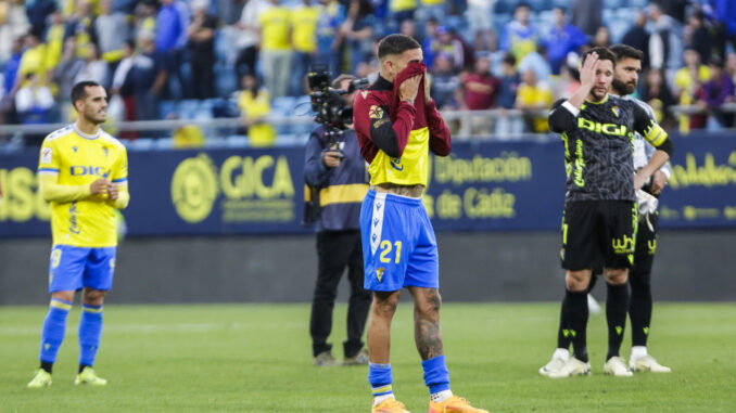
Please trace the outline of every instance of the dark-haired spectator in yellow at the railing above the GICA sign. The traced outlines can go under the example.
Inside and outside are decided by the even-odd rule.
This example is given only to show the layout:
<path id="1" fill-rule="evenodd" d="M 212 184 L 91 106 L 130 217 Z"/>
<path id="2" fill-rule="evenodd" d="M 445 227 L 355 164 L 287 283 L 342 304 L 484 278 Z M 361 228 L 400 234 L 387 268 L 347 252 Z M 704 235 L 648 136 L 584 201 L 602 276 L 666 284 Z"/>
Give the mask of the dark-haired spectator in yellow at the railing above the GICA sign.
<path id="1" fill-rule="evenodd" d="M 276 142 L 276 129 L 265 121 L 271 112 L 270 95 L 261 88 L 253 75 L 243 76 L 243 91 L 238 99 L 238 107 L 243 124 L 248 127 L 248 139 L 251 146 L 271 146 Z"/>

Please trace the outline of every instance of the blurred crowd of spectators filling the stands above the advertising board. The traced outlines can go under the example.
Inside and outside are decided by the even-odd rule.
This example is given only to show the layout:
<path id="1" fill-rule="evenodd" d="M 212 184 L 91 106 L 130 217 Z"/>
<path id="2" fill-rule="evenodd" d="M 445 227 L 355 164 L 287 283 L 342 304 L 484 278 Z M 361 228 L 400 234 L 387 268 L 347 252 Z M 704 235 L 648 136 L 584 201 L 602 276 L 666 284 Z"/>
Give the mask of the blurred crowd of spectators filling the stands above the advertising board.
<path id="1" fill-rule="evenodd" d="M 72 85 L 94 80 L 116 120 L 227 99 L 269 144 L 266 116 L 308 94 L 310 65 L 375 80 L 391 33 L 419 40 L 442 111 L 498 109 L 465 125 L 473 133 L 546 132 L 545 109 L 579 85 L 580 55 L 613 42 L 645 51 L 637 96 L 665 127 L 734 126 L 732 0 L 0 0 L 0 122 L 68 121 Z"/>

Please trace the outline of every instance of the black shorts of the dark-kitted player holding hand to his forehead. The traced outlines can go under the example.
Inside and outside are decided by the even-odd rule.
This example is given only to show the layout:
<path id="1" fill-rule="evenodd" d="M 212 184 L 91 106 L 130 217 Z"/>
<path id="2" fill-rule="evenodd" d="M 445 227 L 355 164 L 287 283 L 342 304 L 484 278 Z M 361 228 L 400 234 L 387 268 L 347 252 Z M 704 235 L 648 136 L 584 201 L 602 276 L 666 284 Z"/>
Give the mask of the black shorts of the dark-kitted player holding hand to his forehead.
<path id="1" fill-rule="evenodd" d="M 564 205 L 562 268 L 570 271 L 631 268 L 636 247 L 633 201 L 579 201 Z"/>

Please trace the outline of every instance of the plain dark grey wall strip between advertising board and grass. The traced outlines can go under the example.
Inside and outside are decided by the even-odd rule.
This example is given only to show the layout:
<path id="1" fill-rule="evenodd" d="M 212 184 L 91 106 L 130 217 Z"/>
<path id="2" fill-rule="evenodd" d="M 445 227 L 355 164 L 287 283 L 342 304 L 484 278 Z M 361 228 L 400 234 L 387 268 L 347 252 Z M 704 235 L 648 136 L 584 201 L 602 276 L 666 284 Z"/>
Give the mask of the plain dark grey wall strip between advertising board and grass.
<path id="1" fill-rule="evenodd" d="M 663 231 L 655 298 L 736 300 L 735 240 L 734 230 Z M 437 242 L 445 301 L 556 301 L 563 294 L 557 232 L 441 232 Z M 0 241 L 0 305 L 48 300 L 49 250 L 45 238 Z M 313 235 L 128 238 L 107 302 L 304 302 L 316 268 Z M 604 289 L 594 294 L 604 299 Z M 339 300 L 346 298 L 342 282 Z"/>

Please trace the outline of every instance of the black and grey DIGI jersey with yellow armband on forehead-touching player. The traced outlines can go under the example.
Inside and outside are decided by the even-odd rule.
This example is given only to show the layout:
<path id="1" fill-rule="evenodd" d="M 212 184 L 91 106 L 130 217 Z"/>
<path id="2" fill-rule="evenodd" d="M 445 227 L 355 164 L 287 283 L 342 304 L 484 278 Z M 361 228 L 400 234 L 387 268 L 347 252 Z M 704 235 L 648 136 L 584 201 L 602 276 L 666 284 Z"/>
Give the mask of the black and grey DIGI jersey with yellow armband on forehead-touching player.
<path id="1" fill-rule="evenodd" d="M 635 131 L 655 147 L 668 134 L 636 103 L 607 95 L 604 101 L 585 101 L 578 116 L 562 106 L 551 106 L 549 125 L 561 133 L 567 172 L 566 201 L 635 201 Z M 671 152 L 671 143 L 667 146 Z"/>

